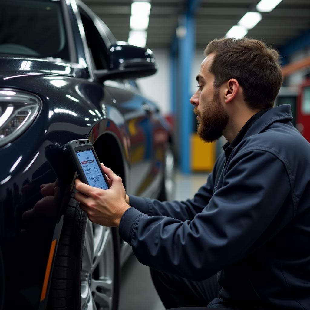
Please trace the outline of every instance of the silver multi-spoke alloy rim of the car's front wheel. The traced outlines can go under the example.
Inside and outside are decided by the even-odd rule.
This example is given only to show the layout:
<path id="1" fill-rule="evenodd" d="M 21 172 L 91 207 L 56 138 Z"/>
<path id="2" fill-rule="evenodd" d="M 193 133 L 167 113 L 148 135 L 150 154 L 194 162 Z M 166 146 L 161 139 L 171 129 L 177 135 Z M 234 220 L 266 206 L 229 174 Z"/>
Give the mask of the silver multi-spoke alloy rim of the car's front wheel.
<path id="1" fill-rule="evenodd" d="M 111 310 L 114 284 L 112 230 L 87 219 L 82 256 L 81 309 Z"/>

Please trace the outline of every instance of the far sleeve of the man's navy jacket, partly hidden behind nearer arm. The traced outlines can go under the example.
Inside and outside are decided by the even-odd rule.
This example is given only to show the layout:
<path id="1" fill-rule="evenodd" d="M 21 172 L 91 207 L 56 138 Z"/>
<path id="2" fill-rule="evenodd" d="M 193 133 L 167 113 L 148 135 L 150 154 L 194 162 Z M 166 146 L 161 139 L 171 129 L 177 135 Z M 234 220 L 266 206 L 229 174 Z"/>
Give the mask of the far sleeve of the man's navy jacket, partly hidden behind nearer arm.
<path id="1" fill-rule="evenodd" d="M 224 154 L 223 154 L 224 155 Z M 162 215 L 186 221 L 193 219 L 197 213 L 200 213 L 209 203 L 215 187 L 215 175 L 219 166 L 223 162 L 223 157 L 219 157 L 213 171 L 208 176 L 206 184 L 202 185 L 193 199 L 186 201 L 159 201 L 150 198 L 141 198 L 129 195 L 129 205 L 149 216 Z"/>

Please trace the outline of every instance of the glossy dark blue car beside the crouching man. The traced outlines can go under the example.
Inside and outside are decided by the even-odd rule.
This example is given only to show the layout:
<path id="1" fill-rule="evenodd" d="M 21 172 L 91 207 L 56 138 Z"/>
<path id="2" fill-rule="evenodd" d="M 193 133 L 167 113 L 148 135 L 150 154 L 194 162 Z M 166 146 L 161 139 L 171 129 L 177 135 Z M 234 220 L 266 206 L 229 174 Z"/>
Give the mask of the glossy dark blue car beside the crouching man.
<path id="1" fill-rule="evenodd" d="M 170 129 L 132 80 L 152 51 L 79 1 L 0 2 L 0 20 L 0 308 L 117 309 L 131 249 L 80 210 L 65 146 L 87 138 L 127 193 L 170 195 Z"/>

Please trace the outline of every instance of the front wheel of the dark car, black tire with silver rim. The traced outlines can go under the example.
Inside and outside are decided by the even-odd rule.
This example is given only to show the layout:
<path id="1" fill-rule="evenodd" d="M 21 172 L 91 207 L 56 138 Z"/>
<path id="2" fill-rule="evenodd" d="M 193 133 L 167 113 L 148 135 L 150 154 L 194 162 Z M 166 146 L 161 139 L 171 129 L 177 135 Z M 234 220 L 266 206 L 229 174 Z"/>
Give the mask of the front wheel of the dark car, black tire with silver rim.
<path id="1" fill-rule="evenodd" d="M 51 309 L 117 310 L 119 297 L 119 237 L 116 228 L 89 221 L 73 198 L 55 255 L 51 279 Z"/>

